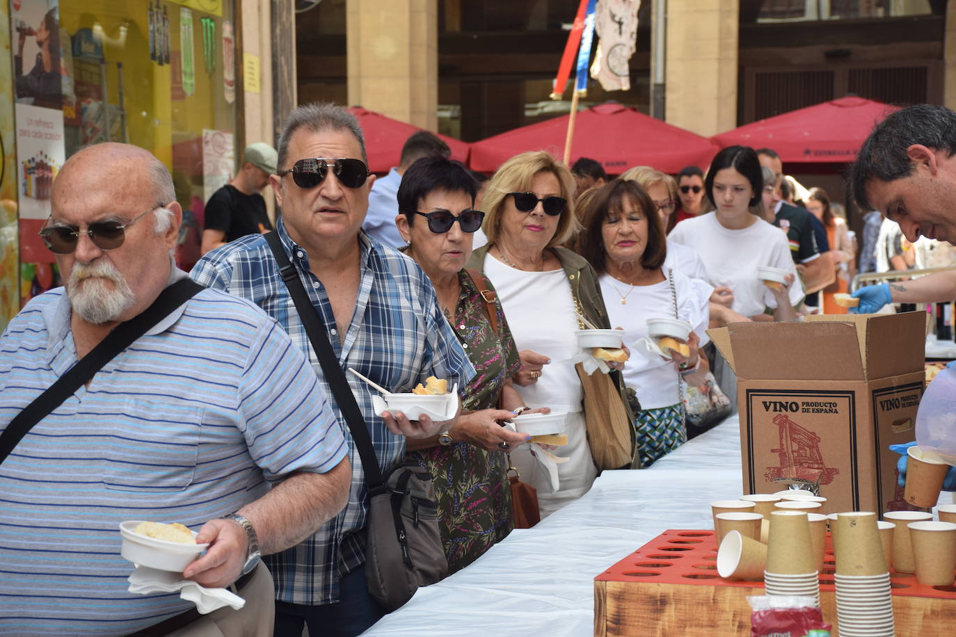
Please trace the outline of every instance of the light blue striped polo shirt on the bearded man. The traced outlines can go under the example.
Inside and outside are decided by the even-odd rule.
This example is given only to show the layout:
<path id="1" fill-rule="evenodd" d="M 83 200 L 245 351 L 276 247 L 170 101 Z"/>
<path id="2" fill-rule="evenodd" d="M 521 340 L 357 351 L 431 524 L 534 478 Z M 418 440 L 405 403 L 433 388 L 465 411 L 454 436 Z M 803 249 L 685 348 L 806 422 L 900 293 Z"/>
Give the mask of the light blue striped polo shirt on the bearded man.
<path id="1" fill-rule="evenodd" d="M 0 337 L 0 431 L 75 363 L 69 300 L 57 288 Z M 0 634 L 124 635 L 187 610 L 176 594 L 127 592 L 121 521 L 198 530 L 346 452 L 285 331 L 247 301 L 201 291 L 0 465 Z"/>

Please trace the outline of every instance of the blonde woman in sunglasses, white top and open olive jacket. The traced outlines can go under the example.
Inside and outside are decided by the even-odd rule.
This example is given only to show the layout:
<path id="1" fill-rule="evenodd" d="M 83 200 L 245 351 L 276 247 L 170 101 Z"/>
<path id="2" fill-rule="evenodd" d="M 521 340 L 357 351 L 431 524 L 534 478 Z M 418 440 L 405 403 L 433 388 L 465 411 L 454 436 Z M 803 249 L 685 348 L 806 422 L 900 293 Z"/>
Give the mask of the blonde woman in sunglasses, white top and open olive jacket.
<path id="1" fill-rule="evenodd" d="M 567 458 L 557 465 L 556 489 L 527 447 L 511 454 L 521 478 L 537 489 L 542 517 L 583 496 L 597 477 L 584 427 L 583 389 L 569 359 L 579 351 L 578 313 L 598 328 L 611 326 L 595 271 L 580 256 L 559 247 L 579 227 L 574 192 L 571 171 L 548 153 L 509 159 L 489 181 L 483 202 L 489 244 L 475 250 L 468 262 L 483 269 L 497 288 L 514 341 L 522 350 L 521 371 L 512 379 L 524 404 L 568 413 L 568 444 L 554 452 Z M 615 364 L 616 370 L 620 367 Z M 613 374 L 622 391 L 619 372 Z"/>

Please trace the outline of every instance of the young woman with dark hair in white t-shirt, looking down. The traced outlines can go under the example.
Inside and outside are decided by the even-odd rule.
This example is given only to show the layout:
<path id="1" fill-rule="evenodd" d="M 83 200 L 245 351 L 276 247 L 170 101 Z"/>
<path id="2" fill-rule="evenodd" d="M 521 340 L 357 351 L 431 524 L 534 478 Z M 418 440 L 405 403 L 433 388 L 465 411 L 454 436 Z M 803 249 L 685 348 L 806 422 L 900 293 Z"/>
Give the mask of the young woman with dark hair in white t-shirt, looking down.
<path id="1" fill-rule="evenodd" d="M 679 223 L 668 239 L 697 251 L 708 283 L 730 290 L 734 311 L 763 319 L 769 309 L 775 321 L 795 320 L 803 291 L 793 285 L 796 267 L 787 236 L 750 213 L 763 190 L 757 154 L 748 146 L 725 148 L 710 163 L 704 185 L 716 210 Z M 765 286 L 759 265 L 786 270 L 787 285 L 779 291 Z"/>

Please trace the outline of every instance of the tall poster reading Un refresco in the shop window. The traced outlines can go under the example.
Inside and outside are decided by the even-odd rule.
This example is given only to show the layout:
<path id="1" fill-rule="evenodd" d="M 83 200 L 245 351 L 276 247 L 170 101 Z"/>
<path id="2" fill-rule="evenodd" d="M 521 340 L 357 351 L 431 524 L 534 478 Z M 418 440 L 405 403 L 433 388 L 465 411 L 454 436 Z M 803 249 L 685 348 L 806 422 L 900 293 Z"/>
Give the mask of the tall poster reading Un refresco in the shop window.
<path id="1" fill-rule="evenodd" d="M 60 29 L 56 2 L 12 0 L 10 18 L 20 297 L 26 302 L 56 283 L 53 254 L 36 233 L 50 216 L 53 180 L 66 159 L 63 85 L 72 75 L 63 58 L 70 40 Z"/>

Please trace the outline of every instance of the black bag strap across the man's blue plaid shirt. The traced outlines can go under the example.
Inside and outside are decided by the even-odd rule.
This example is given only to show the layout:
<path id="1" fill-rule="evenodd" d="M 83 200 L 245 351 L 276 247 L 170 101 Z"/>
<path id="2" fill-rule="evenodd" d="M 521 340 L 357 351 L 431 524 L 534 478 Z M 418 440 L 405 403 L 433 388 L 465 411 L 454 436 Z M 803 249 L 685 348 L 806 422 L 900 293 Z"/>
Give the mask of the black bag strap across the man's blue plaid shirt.
<path id="1" fill-rule="evenodd" d="M 302 286 L 302 280 L 299 279 L 298 270 L 289 262 L 286 251 L 282 247 L 282 240 L 275 231 L 263 235 L 269 246 L 272 248 L 272 256 L 275 263 L 279 266 L 279 275 L 289 288 L 289 294 L 293 297 L 295 310 L 298 311 L 299 318 L 302 319 L 302 327 L 309 336 L 309 342 L 312 343 L 312 349 L 318 357 L 318 362 L 322 366 L 322 372 L 325 379 L 329 382 L 333 395 L 336 397 L 338 409 L 345 416 L 345 424 L 348 425 L 352 433 L 352 439 L 355 440 L 356 448 L 359 450 L 362 468 L 365 471 L 365 482 L 368 484 L 369 491 L 381 484 L 381 470 L 379 468 L 379 457 L 375 455 L 375 449 L 372 447 L 372 437 L 368 435 L 368 428 L 365 425 L 365 418 L 359 410 L 359 403 L 356 402 L 356 396 L 349 387 L 349 381 L 345 379 L 345 372 L 338 364 L 335 350 L 329 343 L 329 335 L 325 327 L 318 320 L 318 313 L 306 294 L 305 287 Z"/>

